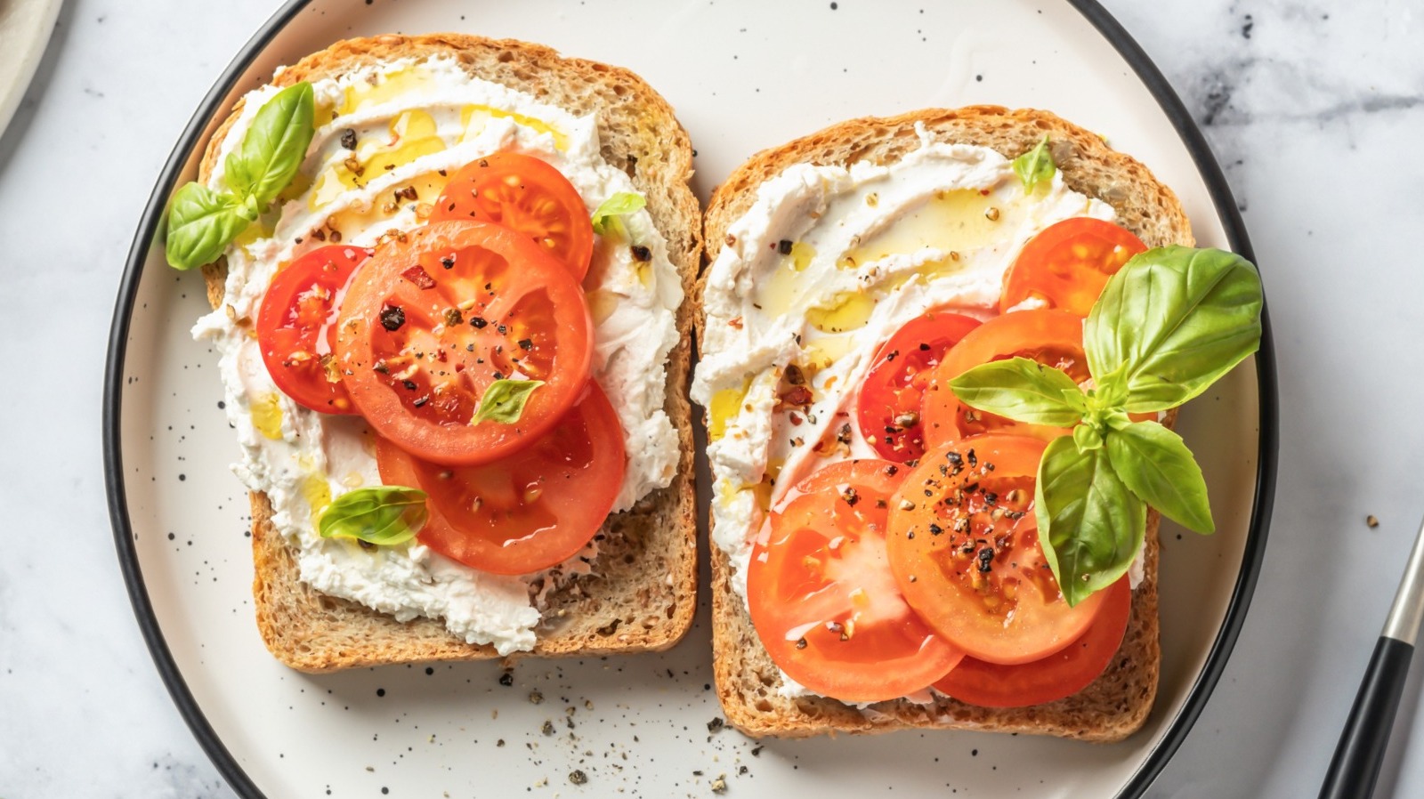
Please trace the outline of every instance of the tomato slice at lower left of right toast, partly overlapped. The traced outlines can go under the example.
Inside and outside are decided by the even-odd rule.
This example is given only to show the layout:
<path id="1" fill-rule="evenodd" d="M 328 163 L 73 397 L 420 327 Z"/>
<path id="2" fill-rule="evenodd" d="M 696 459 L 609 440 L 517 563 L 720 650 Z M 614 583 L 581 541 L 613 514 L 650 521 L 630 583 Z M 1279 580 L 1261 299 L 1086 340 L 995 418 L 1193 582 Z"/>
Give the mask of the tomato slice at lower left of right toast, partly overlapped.
<path id="1" fill-rule="evenodd" d="M 903 474 L 887 460 L 827 466 L 793 489 L 752 547 L 756 634 L 782 671 L 824 696 L 904 696 L 963 657 L 910 610 L 886 563 L 886 503 Z"/>

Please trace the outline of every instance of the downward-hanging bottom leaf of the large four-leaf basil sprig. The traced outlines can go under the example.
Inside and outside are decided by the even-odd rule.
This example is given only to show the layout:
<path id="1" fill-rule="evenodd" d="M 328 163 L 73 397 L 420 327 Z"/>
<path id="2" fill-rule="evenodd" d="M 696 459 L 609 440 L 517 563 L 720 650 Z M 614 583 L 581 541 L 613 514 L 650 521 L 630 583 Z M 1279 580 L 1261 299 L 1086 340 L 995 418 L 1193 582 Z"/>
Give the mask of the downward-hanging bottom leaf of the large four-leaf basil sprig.
<path id="1" fill-rule="evenodd" d="M 1049 442 L 1034 487 L 1038 540 L 1069 605 L 1116 583 L 1142 547 L 1146 506 L 1108 463 L 1105 449 Z"/>

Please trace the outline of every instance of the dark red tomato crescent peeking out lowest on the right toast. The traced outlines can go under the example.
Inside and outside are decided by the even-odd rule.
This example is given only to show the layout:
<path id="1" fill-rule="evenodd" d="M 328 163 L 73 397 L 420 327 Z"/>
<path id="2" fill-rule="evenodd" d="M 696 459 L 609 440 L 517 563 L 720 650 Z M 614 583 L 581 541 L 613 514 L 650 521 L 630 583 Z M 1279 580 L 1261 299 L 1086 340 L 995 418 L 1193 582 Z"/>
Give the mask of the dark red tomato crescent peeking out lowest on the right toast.
<path id="1" fill-rule="evenodd" d="M 970 705 L 1022 708 L 1071 696 L 1098 679 L 1122 645 L 1132 615 L 1128 578 L 1102 591 L 1098 618 L 1081 638 L 1047 658 L 1021 665 L 997 665 L 964 658 L 934 686 Z"/>

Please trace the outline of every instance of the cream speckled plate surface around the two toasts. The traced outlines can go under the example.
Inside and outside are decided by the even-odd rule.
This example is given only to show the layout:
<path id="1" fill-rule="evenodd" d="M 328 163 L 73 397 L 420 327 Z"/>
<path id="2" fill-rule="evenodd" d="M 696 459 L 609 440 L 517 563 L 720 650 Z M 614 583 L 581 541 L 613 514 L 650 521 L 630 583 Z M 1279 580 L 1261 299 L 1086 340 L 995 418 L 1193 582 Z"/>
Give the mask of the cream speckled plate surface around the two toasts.
<path id="1" fill-rule="evenodd" d="M 923 7 L 921 7 L 923 6 Z M 1274 367 L 1262 353 L 1179 430 L 1219 531 L 1163 527 L 1162 685 L 1146 728 L 1085 745 L 973 732 L 756 742 L 721 728 L 703 610 L 669 652 L 362 669 L 273 661 L 252 621 L 246 497 L 216 356 L 188 329 L 198 275 L 150 248 L 199 142 L 278 64 L 350 36 L 518 37 L 642 74 L 698 148 L 695 188 L 752 152 L 864 114 L 997 103 L 1052 110 L 1146 162 L 1202 244 L 1250 255 L 1229 189 L 1171 88 L 1088 0 L 481 3 L 315 0 L 281 10 L 182 132 L 120 291 L 105 387 L 120 564 L 174 699 L 219 771 L 255 796 L 1139 796 L 1186 735 L 1240 628 L 1274 477 Z M 1267 265 L 1269 275 L 1269 265 Z M 705 469 L 705 464 L 703 464 Z"/>

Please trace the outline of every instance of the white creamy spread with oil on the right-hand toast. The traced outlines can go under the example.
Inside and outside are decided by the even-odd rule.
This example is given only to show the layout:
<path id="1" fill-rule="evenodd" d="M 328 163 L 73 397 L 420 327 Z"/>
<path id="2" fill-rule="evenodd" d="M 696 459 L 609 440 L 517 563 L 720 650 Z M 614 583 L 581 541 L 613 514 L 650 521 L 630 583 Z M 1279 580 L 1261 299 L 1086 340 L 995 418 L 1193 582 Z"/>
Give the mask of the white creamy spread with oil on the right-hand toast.
<path id="1" fill-rule="evenodd" d="M 765 181 L 708 271 L 692 399 L 708 410 L 712 540 L 743 600 L 768 508 L 819 466 L 877 457 L 854 402 L 880 343 L 931 308 L 994 315 L 1004 272 L 1037 232 L 1114 219 L 1061 174 L 1025 195 L 998 152 L 917 132 L 920 147 L 894 164 L 797 164 Z M 809 407 L 778 403 L 792 367 Z M 782 692 L 805 688 L 783 675 Z"/>

